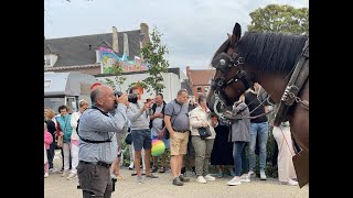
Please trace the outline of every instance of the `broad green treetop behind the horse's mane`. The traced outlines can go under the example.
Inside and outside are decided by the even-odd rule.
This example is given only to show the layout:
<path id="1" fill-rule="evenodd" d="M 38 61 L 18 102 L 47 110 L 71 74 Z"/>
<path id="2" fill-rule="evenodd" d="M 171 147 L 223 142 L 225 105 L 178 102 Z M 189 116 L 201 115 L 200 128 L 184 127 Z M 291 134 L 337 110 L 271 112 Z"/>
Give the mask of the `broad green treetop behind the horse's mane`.
<path id="1" fill-rule="evenodd" d="M 248 31 L 309 34 L 309 9 L 269 4 L 250 12 Z"/>

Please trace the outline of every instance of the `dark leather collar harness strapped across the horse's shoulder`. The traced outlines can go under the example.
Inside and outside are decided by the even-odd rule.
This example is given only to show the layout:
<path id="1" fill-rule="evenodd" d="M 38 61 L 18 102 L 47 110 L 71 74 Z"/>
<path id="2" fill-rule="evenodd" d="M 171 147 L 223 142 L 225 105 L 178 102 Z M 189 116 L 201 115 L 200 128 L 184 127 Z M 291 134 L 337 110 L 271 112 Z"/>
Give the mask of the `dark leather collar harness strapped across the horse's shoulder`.
<path id="1" fill-rule="evenodd" d="M 302 48 L 302 54 L 296 64 L 293 74 L 286 87 L 286 90 L 278 105 L 274 124 L 279 125 L 281 122 L 288 120 L 288 111 L 293 106 L 295 101 L 300 103 L 309 111 L 309 101 L 301 100 L 298 96 L 300 89 L 309 78 L 309 37 Z"/>

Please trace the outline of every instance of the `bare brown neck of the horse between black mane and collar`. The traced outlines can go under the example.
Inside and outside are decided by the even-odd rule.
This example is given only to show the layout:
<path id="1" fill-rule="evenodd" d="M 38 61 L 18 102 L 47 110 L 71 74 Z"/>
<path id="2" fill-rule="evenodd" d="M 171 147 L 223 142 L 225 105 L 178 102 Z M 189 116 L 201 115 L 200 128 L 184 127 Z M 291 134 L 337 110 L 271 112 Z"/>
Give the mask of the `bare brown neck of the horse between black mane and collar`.
<path id="1" fill-rule="evenodd" d="M 266 92 L 270 96 L 270 98 L 276 102 L 279 103 L 280 98 L 282 97 L 286 86 L 289 81 L 285 80 L 286 74 L 278 74 L 278 75 L 263 75 L 258 76 L 256 79 L 257 82 L 261 85 L 261 87 L 266 90 Z"/>

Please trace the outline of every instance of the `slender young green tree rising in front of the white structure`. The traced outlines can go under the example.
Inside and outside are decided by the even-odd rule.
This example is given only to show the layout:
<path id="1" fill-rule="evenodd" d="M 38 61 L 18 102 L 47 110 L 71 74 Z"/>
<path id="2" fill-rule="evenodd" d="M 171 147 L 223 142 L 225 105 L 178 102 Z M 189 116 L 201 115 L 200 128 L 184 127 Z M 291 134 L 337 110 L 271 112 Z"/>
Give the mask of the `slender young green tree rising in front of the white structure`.
<path id="1" fill-rule="evenodd" d="M 157 28 L 153 29 L 151 35 L 151 42 L 149 42 L 141 51 L 143 61 L 149 68 L 149 77 L 142 80 L 146 84 L 147 91 L 151 89 L 154 94 L 161 92 L 165 87 L 162 81 L 162 73 L 168 72 L 169 63 L 164 59 L 163 55 L 168 54 L 165 45 L 161 44 L 162 34 L 158 32 Z"/>

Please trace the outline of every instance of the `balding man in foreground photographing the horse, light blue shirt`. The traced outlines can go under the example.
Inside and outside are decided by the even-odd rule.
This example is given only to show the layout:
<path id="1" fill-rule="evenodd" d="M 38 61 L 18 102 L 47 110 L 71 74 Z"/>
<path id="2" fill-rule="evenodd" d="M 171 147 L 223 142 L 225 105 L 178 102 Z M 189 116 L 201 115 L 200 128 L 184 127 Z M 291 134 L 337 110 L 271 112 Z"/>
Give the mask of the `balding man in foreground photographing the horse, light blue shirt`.
<path id="1" fill-rule="evenodd" d="M 92 109 L 79 118 L 77 176 L 83 197 L 111 197 L 109 167 L 117 156 L 116 133 L 128 123 L 127 95 L 117 98 L 109 86 L 99 85 L 90 92 Z M 117 106 L 116 106 L 117 105 Z M 109 112 L 117 107 L 116 114 Z"/>

